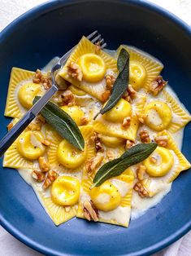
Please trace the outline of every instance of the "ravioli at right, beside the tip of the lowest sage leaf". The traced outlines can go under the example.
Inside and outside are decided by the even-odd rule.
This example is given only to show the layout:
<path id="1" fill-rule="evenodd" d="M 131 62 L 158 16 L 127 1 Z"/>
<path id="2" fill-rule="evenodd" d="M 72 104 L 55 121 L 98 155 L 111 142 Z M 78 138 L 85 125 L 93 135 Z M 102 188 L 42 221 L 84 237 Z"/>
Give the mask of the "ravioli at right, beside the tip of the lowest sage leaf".
<path id="1" fill-rule="evenodd" d="M 167 147 L 158 147 L 151 154 L 150 157 L 155 157 L 156 163 L 150 161 L 150 157 L 144 161 L 148 176 L 141 183 L 150 196 L 163 191 L 165 184 L 171 183 L 181 171 L 188 170 L 191 167 L 167 130 L 159 132 L 156 136 L 167 136 Z M 160 149 L 159 152 L 158 149 Z"/>

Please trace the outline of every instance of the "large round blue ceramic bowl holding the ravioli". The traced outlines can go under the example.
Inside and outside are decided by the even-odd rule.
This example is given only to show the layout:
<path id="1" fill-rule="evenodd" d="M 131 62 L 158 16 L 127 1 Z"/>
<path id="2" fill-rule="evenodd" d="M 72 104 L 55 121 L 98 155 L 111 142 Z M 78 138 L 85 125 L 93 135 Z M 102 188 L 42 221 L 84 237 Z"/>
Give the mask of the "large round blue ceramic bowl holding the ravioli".
<path id="1" fill-rule="evenodd" d="M 181 20 L 145 1 L 50 1 L 28 11 L 0 34 L 1 136 L 10 119 L 3 117 L 11 67 L 35 70 L 63 55 L 98 29 L 116 49 L 127 43 L 164 64 L 163 77 L 191 110 L 191 31 Z M 190 128 L 183 153 L 191 159 Z M 2 166 L 2 159 L 1 159 Z M 15 170 L 0 167 L 0 218 L 13 236 L 49 255 L 145 255 L 170 245 L 191 227 L 191 172 L 180 174 L 171 192 L 129 228 L 83 219 L 55 227 Z"/>

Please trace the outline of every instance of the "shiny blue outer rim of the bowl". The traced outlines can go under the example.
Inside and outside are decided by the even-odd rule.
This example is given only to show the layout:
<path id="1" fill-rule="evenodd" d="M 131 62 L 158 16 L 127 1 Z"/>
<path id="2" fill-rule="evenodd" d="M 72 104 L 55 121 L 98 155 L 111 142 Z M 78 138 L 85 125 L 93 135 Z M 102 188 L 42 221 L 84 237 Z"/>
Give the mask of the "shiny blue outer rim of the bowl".
<path id="1" fill-rule="evenodd" d="M 170 11 L 167 11 L 163 7 L 159 7 L 157 4 L 153 2 L 149 2 L 147 0 L 92 0 L 92 2 L 128 2 L 134 6 L 141 6 L 145 7 L 147 9 L 150 9 L 150 11 L 154 11 L 158 13 L 159 15 L 164 16 L 168 20 L 171 20 L 176 26 L 178 26 L 180 29 L 184 30 L 184 32 L 189 35 L 191 38 L 191 27 L 189 24 L 186 24 L 184 20 L 181 20 L 178 16 L 174 15 Z M 24 12 L 24 14 L 18 16 L 15 20 L 13 20 L 10 24 L 7 25 L 5 29 L 2 29 L 0 33 L 0 43 L 9 37 L 9 34 L 12 33 L 15 30 L 15 27 L 17 25 L 22 24 L 25 20 L 33 20 L 35 17 L 39 15 L 43 15 L 49 11 L 54 11 L 57 8 L 68 6 L 72 4 L 79 4 L 83 2 L 89 2 L 89 0 L 50 0 L 48 2 L 41 3 L 40 5 L 37 5 L 37 7 L 33 7 L 32 9 Z M 30 248 L 37 250 L 38 252 L 46 255 L 69 255 L 67 253 L 59 254 L 58 251 L 55 249 L 48 248 L 46 246 L 41 245 L 40 243 L 37 243 L 36 241 L 33 241 L 33 239 L 30 239 L 28 236 L 25 236 L 18 228 L 15 228 L 11 223 L 7 222 L 7 220 L 3 217 L 2 212 L 0 210 L 0 224 L 3 228 L 7 230 L 12 236 L 14 236 L 16 239 L 24 243 L 24 245 L 28 245 Z M 168 245 L 171 245 L 173 242 L 180 239 L 181 236 L 184 236 L 189 230 L 191 229 L 191 219 L 188 223 L 185 223 L 183 227 L 178 229 L 175 233 L 173 233 L 171 236 L 168 236 L 166 239 L 163 239 L 162 241 L 158 242 L 157 244 L 151 245 L 150 247 L 147 247 L 146 249 L 142 249 L 139 252 L 135 252 L 132 254 L 124 254 L 124 255 L 148 255 L 148 254 L 154 254 L 155 252 L 158 252 L 159 250 L 167 247 Z M 73 254 L 70 254 L 73 255 Z"/>

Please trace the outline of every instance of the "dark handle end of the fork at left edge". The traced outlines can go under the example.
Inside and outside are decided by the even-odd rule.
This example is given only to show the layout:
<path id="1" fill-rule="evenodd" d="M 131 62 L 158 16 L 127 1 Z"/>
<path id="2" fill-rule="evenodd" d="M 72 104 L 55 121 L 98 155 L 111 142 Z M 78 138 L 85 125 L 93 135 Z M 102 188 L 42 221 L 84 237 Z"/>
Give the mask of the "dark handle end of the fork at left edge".
<path id="1" fill-rule="evenodd" d="M 11 144 L 14 143 L 15 139 L 21 134 L 22 131 L 24 131 L 29 123 L 33 121 L 34 117 L 35 115 L 32 112 L 26 113 L 25 116 L 21 118 L 10 131 L 7 132 L 7 135 L 5 135 L 0 141 L 0 157 L 2 157 L 4 152 L 6 152 Z"/>

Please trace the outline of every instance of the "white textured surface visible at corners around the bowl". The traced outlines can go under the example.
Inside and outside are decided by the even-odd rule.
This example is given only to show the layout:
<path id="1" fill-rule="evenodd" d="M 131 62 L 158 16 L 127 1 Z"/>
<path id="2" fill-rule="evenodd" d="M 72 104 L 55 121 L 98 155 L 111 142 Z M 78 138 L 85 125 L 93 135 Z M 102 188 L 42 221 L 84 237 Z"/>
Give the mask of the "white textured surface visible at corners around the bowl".
<path id="1" fill-rule="evenodd" d="M 16 17 L 45 0 L 0 0 L 0 31 Z M 191 0 L 150 0 L 191 25 Z M 1 256 L 41 256 L 0 227 Z M 154 256 L 191 256 L 191 232 Z"/>

